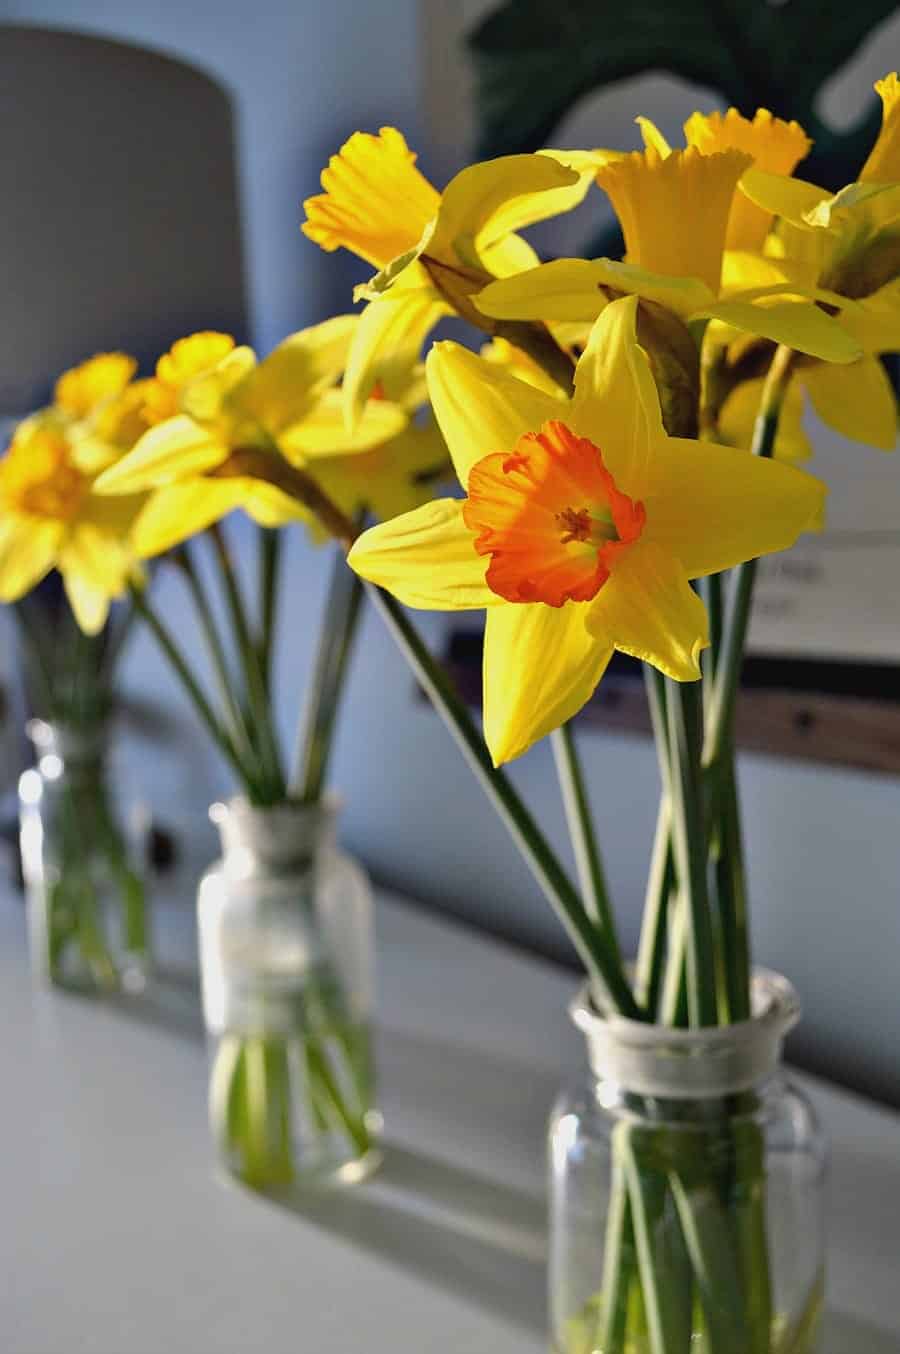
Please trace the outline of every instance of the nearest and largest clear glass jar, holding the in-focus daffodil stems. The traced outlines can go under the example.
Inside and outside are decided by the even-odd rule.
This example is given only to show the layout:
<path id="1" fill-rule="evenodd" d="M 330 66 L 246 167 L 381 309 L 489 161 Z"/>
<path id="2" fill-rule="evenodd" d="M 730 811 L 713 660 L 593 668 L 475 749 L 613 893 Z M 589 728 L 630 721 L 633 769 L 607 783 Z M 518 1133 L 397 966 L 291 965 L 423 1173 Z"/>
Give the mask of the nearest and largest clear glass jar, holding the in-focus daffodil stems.
<path id="1" fill-rule="evenodd" d="M 823 1301 L 824 1145 L 780 1071 L 798 1018 L 757 971 L 748 1021 L 572 1018 L 590 1074 L 549 1129 L 556 1354 L 809 1354 Z"/>

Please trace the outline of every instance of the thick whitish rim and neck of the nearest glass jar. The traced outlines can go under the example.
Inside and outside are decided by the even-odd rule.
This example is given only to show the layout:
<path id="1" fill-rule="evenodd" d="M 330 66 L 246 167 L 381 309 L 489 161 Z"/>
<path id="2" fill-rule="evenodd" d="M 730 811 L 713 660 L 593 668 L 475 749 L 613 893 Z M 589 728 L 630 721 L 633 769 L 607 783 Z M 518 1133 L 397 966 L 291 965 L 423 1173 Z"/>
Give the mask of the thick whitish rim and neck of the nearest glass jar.
<path id="1" fill-rule="evenodd" d="M 701 1101 L 762 1086 L 778 1068 L 785 1034 L 800 1018 L 800 1001 L 790 983 L 769 969 L 754 972 L 751 998 L 750 1020 L 702 1029 L 602 1016 L 587 988 L 575 998 L 571 1016 L 585 1034 L 598 1082 L 635 1095 Z"/>

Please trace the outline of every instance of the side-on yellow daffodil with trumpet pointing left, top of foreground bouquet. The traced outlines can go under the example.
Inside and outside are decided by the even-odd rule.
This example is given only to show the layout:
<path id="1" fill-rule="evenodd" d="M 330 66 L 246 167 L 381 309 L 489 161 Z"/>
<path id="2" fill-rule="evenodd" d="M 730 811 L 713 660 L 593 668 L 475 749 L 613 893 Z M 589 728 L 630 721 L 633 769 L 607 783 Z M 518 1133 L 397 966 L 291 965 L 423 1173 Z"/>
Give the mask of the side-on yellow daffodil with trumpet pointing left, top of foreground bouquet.
<path id="1" fill-rule="evenodd" d="M 306 200 L 303 223 L 323 249 L 344 246 L 379 269 L 357 288 L 368 305 L 344 382 L 351 421 L 376 383 L 397 397 L 441 315 L 493 330 L 472 297 L 532 268 L 537 257 L 516 232 L 578 206 L 591 180 L 587 157 L 545 150 L 470 165 L 438 194 L 394 127 L 355 133 L 322 172 L 325 192 Z"/>

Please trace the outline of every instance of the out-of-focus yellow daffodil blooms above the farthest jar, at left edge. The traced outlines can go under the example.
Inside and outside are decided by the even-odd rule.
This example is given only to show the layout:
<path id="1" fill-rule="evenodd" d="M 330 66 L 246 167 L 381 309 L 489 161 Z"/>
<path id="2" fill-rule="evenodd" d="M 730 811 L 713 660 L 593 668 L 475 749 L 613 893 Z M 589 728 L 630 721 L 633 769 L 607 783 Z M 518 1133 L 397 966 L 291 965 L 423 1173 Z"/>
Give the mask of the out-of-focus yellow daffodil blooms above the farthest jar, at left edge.
<path id="1" fill-rule="evenodd" d="M 58 569 L 88 634 L 135 570 L 131 533 L 145 496 L 96 493 L 99 470 L 146 428 L 135 367 L 125 353 L 100 353 L 65 372 L 54 405 L 19 424 L 0 460 L 0 601 Z"/>

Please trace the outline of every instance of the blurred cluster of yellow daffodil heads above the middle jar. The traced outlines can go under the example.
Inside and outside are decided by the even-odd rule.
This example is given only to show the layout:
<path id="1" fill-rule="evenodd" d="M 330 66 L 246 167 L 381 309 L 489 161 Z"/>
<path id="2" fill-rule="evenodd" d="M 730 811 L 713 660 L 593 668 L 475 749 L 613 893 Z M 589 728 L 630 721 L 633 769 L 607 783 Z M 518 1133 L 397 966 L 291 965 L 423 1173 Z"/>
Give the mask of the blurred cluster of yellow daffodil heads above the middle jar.
<path id="1" fill-rule="evenodd" d="M 441 456 L 407 409 L 374 398 L 356 429 L 345 427 L 336 380 L 356 325 L 356 317 L 338 315 L 300 330 L 260 363 L 249 348 L 222 343 L 226 336 L 210 343 L 212 336 L 195 334 L 175 344 L 157 376 L 161 370 L 168 378 L 180 412 L 150 428 L 100 479 L 108 494 L 154 490 L 134 531 L 141 556 L 160 554 L 238 508 L 265 527 L 314 525 L 286 489 L 257 478 L 248 452 L 273 467 L 287 460 L 310 470 L 345 510 L 363 501 L 376 512 L 398 502 L 405 510 L 421 501 L 425 470 L 437 468 Z M 206 367 L 204 355 L 211 359 Z"/>

